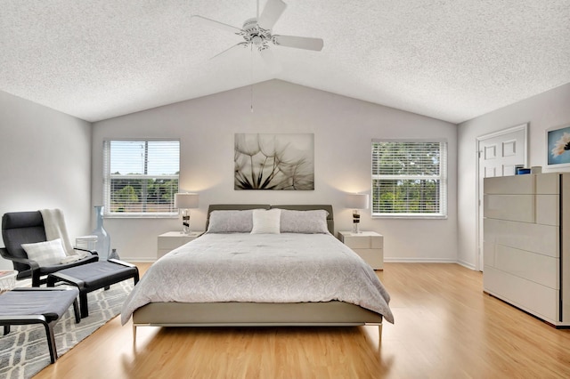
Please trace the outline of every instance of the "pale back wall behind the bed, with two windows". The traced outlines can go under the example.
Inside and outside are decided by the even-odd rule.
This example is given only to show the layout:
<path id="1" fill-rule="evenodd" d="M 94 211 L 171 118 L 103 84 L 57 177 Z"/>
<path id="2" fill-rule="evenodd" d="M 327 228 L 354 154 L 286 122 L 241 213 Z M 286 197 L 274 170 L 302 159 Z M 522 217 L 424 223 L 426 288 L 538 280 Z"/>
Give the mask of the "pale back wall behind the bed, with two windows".
<path id="1" fill-rule="evenodd" d="M 203 230 L 210 203 L 332 204 L 336 230 L 352 228 L 346 192 L 371 190 L 371 139 L 449 141 L 449 218 L 372 220 L 363 230 L 385 236 L 387 261 L 455 262 L 457 257 L 456 125 L 279 80 L 112 118 L 94 124 L 93 206 L 102 203 L 102 141 L 119 137 L 180 138 L 181 189 L 199 192 L 191 229 Z M 314 133 L 314 191 L 233 189 L 234 133 Z M 176 219 L 106 219 L 111 246 L 132 261 L 156 259 L 157 236 Z"/>

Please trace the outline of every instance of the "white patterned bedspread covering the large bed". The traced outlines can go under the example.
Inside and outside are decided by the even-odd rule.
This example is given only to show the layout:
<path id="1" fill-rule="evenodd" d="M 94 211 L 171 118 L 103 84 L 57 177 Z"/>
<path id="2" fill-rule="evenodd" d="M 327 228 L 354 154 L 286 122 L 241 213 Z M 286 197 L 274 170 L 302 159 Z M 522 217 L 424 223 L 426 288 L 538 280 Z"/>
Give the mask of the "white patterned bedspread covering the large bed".
<path id="1" fill-rule="evenodd" d="M 394 316 L 369 265 L 330 234 L 206 234 L 155 262 L 121 312 L 149 302 L 329 302 Z"/>

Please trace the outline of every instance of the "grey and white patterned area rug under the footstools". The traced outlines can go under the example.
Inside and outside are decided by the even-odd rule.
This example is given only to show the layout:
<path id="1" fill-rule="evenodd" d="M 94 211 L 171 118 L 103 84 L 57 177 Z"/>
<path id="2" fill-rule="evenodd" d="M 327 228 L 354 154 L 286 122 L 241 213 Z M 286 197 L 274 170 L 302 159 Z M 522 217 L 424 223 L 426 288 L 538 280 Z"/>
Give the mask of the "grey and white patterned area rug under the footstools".
<path id="1" fill-rule="evenodd" d="M 73 307 L 69 307 L 53 328 L 58 356 L 117 316 L 132 290 L 133 280 L 124 280 L 110 286 L 108 291 L 101 289 L 87 294 L 89 316 L 79 324 L 75 323 Z M 0 333 L 1 379 L 30 378 L 51 364 L 44 327 L 12 326 L 10 329 L 8 335 Z"/>

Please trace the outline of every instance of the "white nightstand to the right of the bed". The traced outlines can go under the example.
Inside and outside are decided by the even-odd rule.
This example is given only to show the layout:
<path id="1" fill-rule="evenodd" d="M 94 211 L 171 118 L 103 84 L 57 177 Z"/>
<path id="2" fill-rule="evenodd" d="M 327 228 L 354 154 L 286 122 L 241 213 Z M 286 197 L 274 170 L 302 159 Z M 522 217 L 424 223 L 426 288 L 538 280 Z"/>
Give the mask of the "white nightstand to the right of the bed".
<path id="1" fill-rule="evenodd" d="M 384 236 L 375 231 L 339 231 L 338 239 L 374 270 L 384 270 Z"/>

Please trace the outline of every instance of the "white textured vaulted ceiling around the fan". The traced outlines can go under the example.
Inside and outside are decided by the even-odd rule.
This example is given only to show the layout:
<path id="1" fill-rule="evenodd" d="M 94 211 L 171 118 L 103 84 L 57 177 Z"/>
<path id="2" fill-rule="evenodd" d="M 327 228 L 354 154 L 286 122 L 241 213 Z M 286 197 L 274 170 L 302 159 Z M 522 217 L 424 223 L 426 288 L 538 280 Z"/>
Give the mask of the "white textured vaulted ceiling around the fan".
<path id="1" fill-rule="evenodd" d="M 324 39 L 232 50 L 255 0 L 0 0 L 0 90 L 88 121 L 271 78 L 452 123 L 570 83 L 568 0 L 285 0 L 273 28 Z M 263 9 L 265 0 L 260 1 Z"/>

